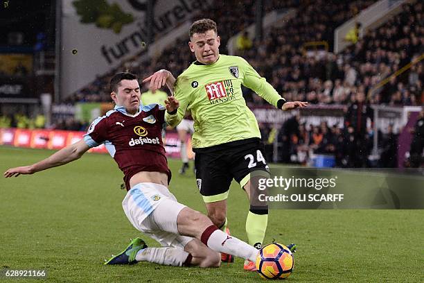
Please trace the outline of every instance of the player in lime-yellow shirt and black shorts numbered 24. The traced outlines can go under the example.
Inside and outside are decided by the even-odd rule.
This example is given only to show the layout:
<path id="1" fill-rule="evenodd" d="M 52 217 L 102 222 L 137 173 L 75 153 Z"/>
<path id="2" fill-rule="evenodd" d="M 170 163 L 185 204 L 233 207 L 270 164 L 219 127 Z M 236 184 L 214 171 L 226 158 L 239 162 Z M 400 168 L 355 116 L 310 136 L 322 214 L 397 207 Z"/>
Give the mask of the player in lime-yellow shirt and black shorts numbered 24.
<path id="1" fill-rule="evenodd" d="M 209 218 L 220 229 L 229 232 L 227 197 L 231 180 L 235 179 L 251 203 L 246 220 L 249 244 L 260 248 L 267 228 L 268 209 L 266 205 L 254 205 L 251 196 L 256 193 L 251 191 L 254 188 L 251 188 L 250 173 L 265 171 L 266 174 L 269 169 L 260 143 L 258 122 L 247 108 L 241 86 L 252 89 L 281 110 L 303 108 L 308 103 L 286 102 L 246 60 L 220 54 L 220 37 L 213 20 L 194 22 L 189 37 L 188 45 L 196 61 L 177 80 L 170 71 L 160 70 L 145 81 L 150 81 L 152 89 L 166 83 L 174 91 L 179 108 L 166 113 L 170 126 L 182 121 L 187 110 L 191 112 L 197 186 Z M 231 257 L 222 255 L 222 261 L 231 261 Z M 255 271 L 254 262 L 245 261 L 245 270 Z"/>

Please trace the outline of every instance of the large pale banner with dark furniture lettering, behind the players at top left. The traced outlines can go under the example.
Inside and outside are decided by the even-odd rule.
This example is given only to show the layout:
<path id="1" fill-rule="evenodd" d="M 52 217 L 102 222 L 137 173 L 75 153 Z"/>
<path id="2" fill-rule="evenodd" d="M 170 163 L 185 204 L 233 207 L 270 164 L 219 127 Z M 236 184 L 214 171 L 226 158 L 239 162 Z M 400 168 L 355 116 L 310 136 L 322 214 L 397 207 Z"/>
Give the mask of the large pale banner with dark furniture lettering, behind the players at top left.
<path id="1" fill-rule="evenodd" d="M 84 1 L 62 0 L 62 46 L 61 49 L 61 93 L 69 96 L 135 55 L 145 56 L 149 49 L 160 51 L 175 40 L 179 26 L 184 25 L 195 13 L 207 10 L 212 0 L 156 0 L 152 35 L 154 42 L 148 42 L 147 1 L 105 0 L 106 6 L 98 8 Z M 91 3 L 91 1 L 87 1 Z M 77 8 L 78 6 L 78 8 Z M 91 9 L 91 10 L 90 10 Z M 82 21 L 93 15 L 108 17 Z M 110 9 L 114 10 L 110 12 Z M 115 11 L 116 9 L 116 11 Z M 104 11 L 103 11 L 104 12 Z M 125 19 L 116 17 L 125 15 Z M 171 32 L 172 31 L 172 32 Z M 186 30 L 184 30 L 184 34 Z M 72 52 L 73 50 L 78 51 Z"/>

